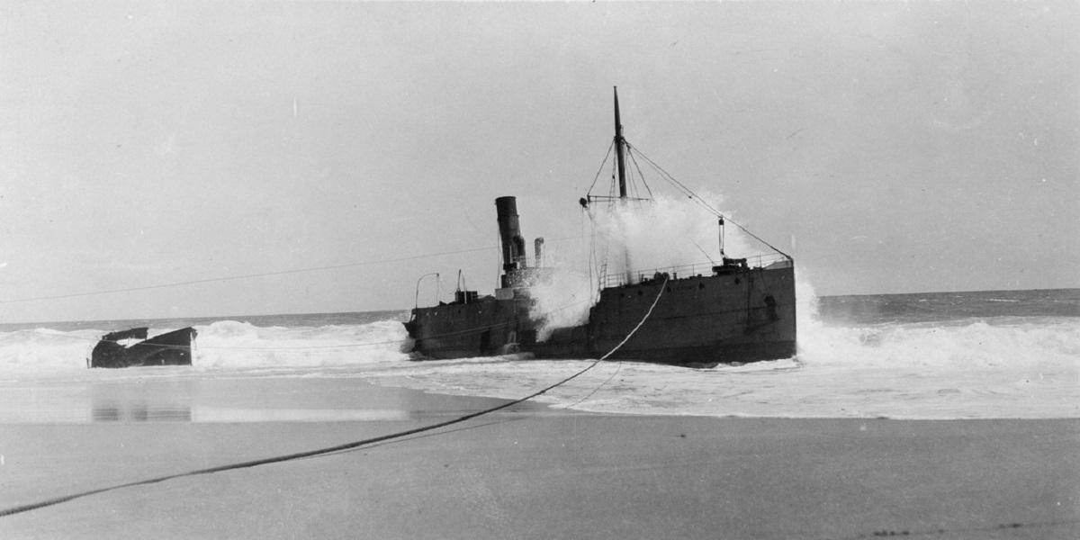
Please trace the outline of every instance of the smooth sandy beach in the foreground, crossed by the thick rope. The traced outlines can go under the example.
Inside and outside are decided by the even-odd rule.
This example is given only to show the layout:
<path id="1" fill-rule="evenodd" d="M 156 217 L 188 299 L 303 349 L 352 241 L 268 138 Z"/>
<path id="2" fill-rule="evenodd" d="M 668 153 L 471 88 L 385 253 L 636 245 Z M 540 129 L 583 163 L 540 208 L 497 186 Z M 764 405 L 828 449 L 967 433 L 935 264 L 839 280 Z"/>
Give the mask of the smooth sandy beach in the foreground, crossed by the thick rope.
<path id="1" fill-rule="evenodd" d="M 258 397 L 309 410 L 367 406 L 407 414 L 362 421 L 0 423 L 0 508 L 332 446 L 498 403 L 355 379 L 314 382 L 311 390 L 319 391 L 300 396 L 286 391 L 309 383 L 272 382 L 245 399 L 225 392 L 244 383 L 221 383 L 186 403 L 246 410 Z M 268 390 L 274 388 L 282 393 Z M 335 388 L 342 393 L 329 391 Z M 342 403 L 345 395 L 352 402 Z M 1078 450 L 1080 420 L 638 417 L 530 405 L 373 447 L 0 517 L 0 534 L 1078 538 Z"/>

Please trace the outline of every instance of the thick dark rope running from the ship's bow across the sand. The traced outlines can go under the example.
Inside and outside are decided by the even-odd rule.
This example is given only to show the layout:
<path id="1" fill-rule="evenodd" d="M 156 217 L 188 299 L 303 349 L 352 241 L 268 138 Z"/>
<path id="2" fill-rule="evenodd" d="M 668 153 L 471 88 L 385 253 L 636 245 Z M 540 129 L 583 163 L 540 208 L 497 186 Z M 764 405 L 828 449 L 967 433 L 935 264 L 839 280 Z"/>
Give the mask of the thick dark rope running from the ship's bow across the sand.
<path id="1" fill-rule="evenodd" d="M 252 468 L 252 467 L 266 465 L 266 464 L 270 464 L 270 463 L 281 463 L 283 461 L 292 461 L 292 460 L 295 460 L 295 459 L 310 458 L 310 457 L 315 457 L 315 456 L 322 456 L 322 455 L 325 455 L 325 454 L 334 454 L 334 453 L 337 453 L 337 451 L 350 450 L 350 449 L 353 449 L 353 448 L 359 448 L 361 446 L 368 446 L 368 445 L 373 445 L 373 444 L 376 444 L 376 443 L 382 443 L 382 442 L 386 442 L 386 441 L 392 441 L 394 438 L 401 438 L 401 437 L 405 437 L 405 436 L 409 436 L 409 435 L 415 435 L 417 433 L 423 433 L 426 431 L 437 430 L 440 428 L 445 428 L 447 426 L 453 426 L 455 423 L 461 423 L 461 422 L 467 421 L 467 420 L 472 420 L 473 418 L 477 418 L 477 417 L 481 417 L 481 416 L 484 416 L 484 415 L 489 415 L 489 414 L 495 413 L 497 410 L 501 410 L 501 409 L 504 409 L 504 408 L 513 407 L 514 405 L 517 405 L 519 403 L 524 403 L 524 402 L 529 401 L 529 400 L 531 400 L 534 397 L 542 395 L 542 394 L 546 393 L 550 390 L 558 388 L 558 387 L 561 387 L 561 386 L 563 386 L 563 384 L 565 384 L 565 383 L 567 383 L 567 382 L 569 382 L 569 381 L 578 378 L 579 376 L 583 375 L 585 372 L 589 372 L 593 367 L 596 367 L 597 364 L 599 364 L 600 362 L 607 360 L 609 356 L 611 356 L 612 354 L 615 354 L 615 352 L 618 351 L 619 349 L 621 349 L 622 346 L 626 345 L 626 341 L 630 341 L 630 338 L 633 337 L 634 334 L 636 334 L 637 330 L 645 324 L 645 322 L 649 320 L 649 316 L 652 315 L 652 310 L 656 309 L 657 303 L 660 302 L 660 297 L 663 296 L 664 288 L 665 288 L 664 285 L 666 285 L 666 284 L 667 284 L 667 278 L 664 278 L 664 282 L 660 285 L 659 291 L 657 292 L 657 297 L 652 300 L 652 305 L 649 306 L 648 311 L 645 312 L 645 315 L 637 323 L 637 325 L 634 326 L 634 328 L 631 329 L 629 334 L 626 334 L 626 337 L 622 338 L 622 341 L 619 341 L 619 345 L 615 346 L 606 354 L 604 354 L 603 356 L 594 360 L 591 364 L 589 364 L 588 366 L 581 368 L 580 370 L 578 370 L 573 375 L 570 375 L 569 377 L 566 377 L 565 379 L 563 379 L 563 380 L 561 380 L 558 382 L 555 382 L 554 384 L 551 384 L 551 386 L 545 387 L 545 388 L 543 388 L 541 390 L 532 392 L 531 394 L 526 395 L 525 397 L 519 397 L 519 399 L 514 400 L 512 402 L 503 403 L 502 405 L 497 405 L 495 407 L 486 408 L 484 410 L 477 410 L 475 413 L 470 413 L 468 415 L 460 416 L 460 417 L 451 419 L 451 420 L 446 420 L 446 421 L 433 423 L 433 424 L 430 424 L 430 426 L 422 426 L 420 428 L 415 428 L 415 429 L 411 429 L 411 430 L 399 431 L 396 433 L 389 433 L 389 434 L 380 435 L 380 436 L 377 436 L 377 437 L 365 438 L 365 440 L 362 440 L 362 441 L 354 441 L 352 443 L 339 444 L 337 446 L 329 446 L 329 447 L 326 447 L 326 448 L 319 448 L 319 449 L 314 449 L 314 450 L 299 451 L 299 453 L 296 453 L 296 454 L 287 454 L 287 455 L 284 455 L 284 456 L 274 456 L 274 457 L 271 457 L 271 458 L 256 459 L 256 460 L 252 460 L 252 461 L 243 461 L 243 462 L 240 462 L 240 463 L 230 463 L 230 464 L 226 464 L 226 465 L 211 467 L 208 469 L 199 469 L 199 470 L 195 470 L 195 471 L 188 471 L 188 472 L 183 472 L 183 473 L 168 474 L 168 475 L 165 475 L 165 476 L 158 476 L 156 478 L 148 478 L 148 480 L 137 481 L 137 482 L 129 482 L 126 484 L 118 484 L 116 486 L 103 487 L 103 488 L 98 488 L 98 489 L 92 489 L 92 490 L 89 490 L 89 491 L 82 491 L 82 492 L 78 492 L 78 494 L 66 495 L 66 496 L 63 496 L 63 497 L 56 497 L 54 499 L 49 499 L 49 500 L 44 500 L 44 501 L 38 501 L 38 502 L 29 503 L 29 504 L 23 504 L 23 505 L 18 505 L 18 507 L 12 507 L 12 508 L 8 508 L 8 509 L 2 509 L 2 510 L 0 510 L 0 517 L 4 517 L 4 516 L 9 516 L 9 515 L 14 515 L 14 514 L 21 514 L 23 512 L 29 512 L 31 510 L 38 510 L 38 509 L 42 509 L 42 508 L 45 508 L 45 507 L 53 507 L 53 505 L 60 504 L 60 503 L 64 503 L 64 502 L 72 501 L 75 499 L 80 499 L 80 498 L 83 498 L 83 497 L 90 497 L 92 495 L 97 495 L 97 494 L 104 494 L 106 491 L 113 491 L 113 490 L 117 490 L 117 489 L 123 489 L 125 487 L 147 486 L 147 485 L 150 485 L 150 484 L 158 484 L 160 482 L 165 482 L 167 480 L 173 480 L 173 478 L 180 478 L 180 477 L 184 477 L 184 476 L 198 476 L 198 475 L 201 475 L 201 474 L 212 474 L 212 473 L 217 473 L 217 472 L 232 471 L 232 470 L 235 470 L 235 469 L 248 469 L 248 468 Z M 610 377 L 607 380 L 605 380 L 604 382 L 602 382 L 600 387 L 603 387 L 604 384 L 607 384 L 607 382 L 609 380 L 611 380 Z M 597 387 L 597 389 L 599 389 L 599 387 Z M 596 390 L 593 390 L 593 392 L 590 393 L 589 395 L 592 395 L 595 392 L 596 392 Z"/>

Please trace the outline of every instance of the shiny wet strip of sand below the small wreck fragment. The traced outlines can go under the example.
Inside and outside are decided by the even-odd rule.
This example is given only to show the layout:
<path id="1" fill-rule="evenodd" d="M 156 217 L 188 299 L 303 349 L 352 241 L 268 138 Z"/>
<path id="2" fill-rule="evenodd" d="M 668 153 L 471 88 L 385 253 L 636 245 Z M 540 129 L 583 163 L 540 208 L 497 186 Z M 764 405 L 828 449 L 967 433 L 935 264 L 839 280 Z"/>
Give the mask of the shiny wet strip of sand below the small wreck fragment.
<path id="1" fill-rule="evenodd" d="M 504 403 L 377 387 L 355 378 L 146 378 L 0 387 L 0 424 L 445 420 Z M 98 376 L 98 374 L 95 374 Z M 515 410 L 543 410 L 522 404 Z"/>

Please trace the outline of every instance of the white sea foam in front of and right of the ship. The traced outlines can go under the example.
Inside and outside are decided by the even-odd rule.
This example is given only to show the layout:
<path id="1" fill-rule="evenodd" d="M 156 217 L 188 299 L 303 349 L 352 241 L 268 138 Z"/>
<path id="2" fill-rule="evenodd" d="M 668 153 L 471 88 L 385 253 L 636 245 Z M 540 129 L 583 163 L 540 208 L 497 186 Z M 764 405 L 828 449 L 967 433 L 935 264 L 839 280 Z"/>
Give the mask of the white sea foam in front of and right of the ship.
<path id="1" fill-rule="evenodd" d="M 1080 416 L 1080 321 L 800 328 L 797 359 L 713 369 L 603 363 L 540 400 L 581 410 L 703 416 L 1062 418 Z M 582 361 L 424 362 L 378 381 L 519 397 Z"/>

